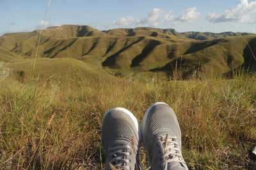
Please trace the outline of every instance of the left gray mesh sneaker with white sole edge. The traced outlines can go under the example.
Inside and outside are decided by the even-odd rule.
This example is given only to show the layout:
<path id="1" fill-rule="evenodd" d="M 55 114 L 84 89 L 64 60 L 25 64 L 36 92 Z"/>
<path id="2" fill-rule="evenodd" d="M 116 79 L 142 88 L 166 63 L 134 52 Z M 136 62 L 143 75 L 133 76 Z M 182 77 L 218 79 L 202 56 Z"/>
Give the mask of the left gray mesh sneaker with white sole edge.
<path id="1" fill-rule="evenodd" d="M 140 169 L 138 120 L 125 108 L 113 108 L 102 120 L 106 169 Z"/>

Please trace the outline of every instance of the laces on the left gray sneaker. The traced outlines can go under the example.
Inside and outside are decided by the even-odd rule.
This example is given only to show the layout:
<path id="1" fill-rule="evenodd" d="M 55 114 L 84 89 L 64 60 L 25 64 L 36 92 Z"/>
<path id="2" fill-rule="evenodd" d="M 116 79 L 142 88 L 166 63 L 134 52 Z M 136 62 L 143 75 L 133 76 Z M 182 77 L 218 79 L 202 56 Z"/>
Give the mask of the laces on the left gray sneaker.
<path id="1" fill-rule="evenodd" d="M 109 164 L 116 168 L 120 169 L 130 169 L 127 164 L 129 164 L 129 155 L 131 150 L 131 146 L 129 145 L 123 145 L 123 146 L 114 146 L 109 148 L 109 157 L 111 158 L 109 160 Z"/>

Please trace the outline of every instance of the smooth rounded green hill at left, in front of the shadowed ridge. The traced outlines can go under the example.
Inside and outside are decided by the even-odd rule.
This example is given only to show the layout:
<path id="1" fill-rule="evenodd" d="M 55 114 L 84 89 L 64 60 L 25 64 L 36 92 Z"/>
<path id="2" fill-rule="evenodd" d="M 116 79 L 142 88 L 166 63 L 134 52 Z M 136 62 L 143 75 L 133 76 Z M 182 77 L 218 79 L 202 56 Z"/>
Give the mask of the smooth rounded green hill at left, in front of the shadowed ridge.
<path id="1" fill-rule="evenodd" d="M 76 80 L 99 81 L 115 78 L 100 67 L 87 64 L 80 60 L 67 58 L 28 59 L 10 63 L 8 67 L 12 69 L 12 76 L 22 81 L 29 80 L 32 74 L 34 74 L 34 78 L 51 80 L 68 80 L 70 77 L 76 77 Z"/>

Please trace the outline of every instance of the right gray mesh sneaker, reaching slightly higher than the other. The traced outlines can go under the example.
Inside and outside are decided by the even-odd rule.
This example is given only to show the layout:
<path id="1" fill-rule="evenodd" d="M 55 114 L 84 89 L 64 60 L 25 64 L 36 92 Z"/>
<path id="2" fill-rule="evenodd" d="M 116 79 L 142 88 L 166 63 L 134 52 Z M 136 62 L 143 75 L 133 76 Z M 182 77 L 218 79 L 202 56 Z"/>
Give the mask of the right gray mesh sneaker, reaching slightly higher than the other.
<path id="1" fill-rule="evenodd" d="M 166 103 L 146 111 L 141 126 L 151 169 L 188 169 L 181 154 L 181 133 L 175 113 Z"/>

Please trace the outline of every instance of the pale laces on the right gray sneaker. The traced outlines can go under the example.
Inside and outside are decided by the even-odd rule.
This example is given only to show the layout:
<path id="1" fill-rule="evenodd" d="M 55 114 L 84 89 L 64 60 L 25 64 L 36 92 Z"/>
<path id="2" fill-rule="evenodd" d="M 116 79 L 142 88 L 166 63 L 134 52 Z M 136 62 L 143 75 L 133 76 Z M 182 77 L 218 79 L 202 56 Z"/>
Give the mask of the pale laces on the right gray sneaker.
<path id="1" fill-rule="evenodd" d="M 178 163 L 184 163 L 185 161 L 182 158 L 179 143 L 177 142 L 177 137 L 170 136 L 159 136 L 157 137 L 159 139 L 159 145 L 163 147 L 161 150 L 163 153 L 161 155 L 161 160 L 163 160 L 162 167 L 164 169 L 167 169 L 167 165 L 170 162 L 178 162 Z"/>

